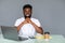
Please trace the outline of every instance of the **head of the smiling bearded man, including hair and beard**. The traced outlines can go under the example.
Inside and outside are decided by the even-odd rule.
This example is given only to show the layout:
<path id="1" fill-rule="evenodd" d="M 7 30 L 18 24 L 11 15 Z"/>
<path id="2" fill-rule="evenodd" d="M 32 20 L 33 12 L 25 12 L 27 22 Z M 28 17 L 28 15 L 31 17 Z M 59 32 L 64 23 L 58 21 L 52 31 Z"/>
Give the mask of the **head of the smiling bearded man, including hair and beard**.
<path id="1" fill-rule="evenodd" d="M 30 4 L 25 4 L 23 6 L 24 17 L 31 17 L 32 6 Z"/>

